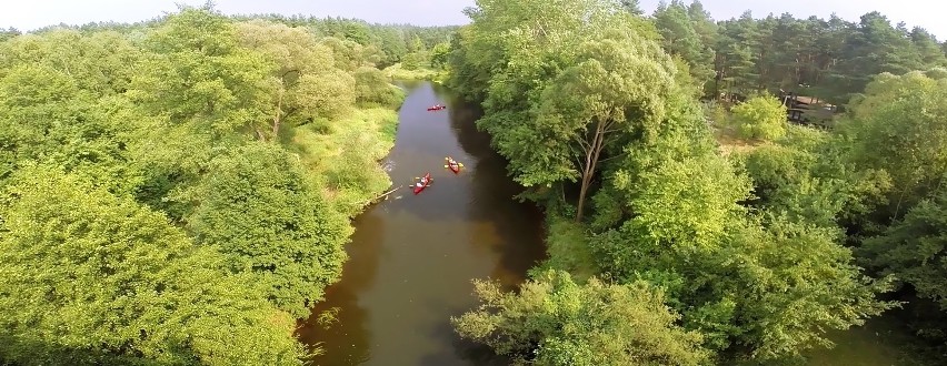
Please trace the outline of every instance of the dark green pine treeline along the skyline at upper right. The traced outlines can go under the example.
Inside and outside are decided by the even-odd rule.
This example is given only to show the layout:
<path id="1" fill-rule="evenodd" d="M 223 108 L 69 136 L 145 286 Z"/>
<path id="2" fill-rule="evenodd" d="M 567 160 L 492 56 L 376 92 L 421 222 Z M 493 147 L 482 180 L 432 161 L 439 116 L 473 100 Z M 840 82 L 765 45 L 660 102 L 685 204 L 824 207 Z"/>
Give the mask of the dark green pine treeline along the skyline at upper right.
<path id="1" fill-rule="evenodd" d="M 782 89 L 843 104 L 875 74 L 947 67 L 947 42 L 876 11 L 857 22 L 749 11 L 715 21 L 699 1 L 672 0 L 652 18 L 661 45 L 687 61 L 707 95 Z"/>

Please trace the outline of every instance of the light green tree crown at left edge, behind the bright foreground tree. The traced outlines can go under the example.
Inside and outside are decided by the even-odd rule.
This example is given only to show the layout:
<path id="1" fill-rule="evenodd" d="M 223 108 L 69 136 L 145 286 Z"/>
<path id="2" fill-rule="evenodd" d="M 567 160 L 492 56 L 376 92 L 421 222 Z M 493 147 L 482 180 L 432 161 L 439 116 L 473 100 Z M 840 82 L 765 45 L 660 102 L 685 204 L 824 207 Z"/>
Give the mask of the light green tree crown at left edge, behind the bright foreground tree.
<path id="1" fill-rule="evenodd" d="M 113 98 L 94 101 L 68 74 L 21 64 L 0 78 L 0 182 L 23 160 L 53 162 L 130 191 L 136 170 L 124 161 L 131 128 L 108 116 Z"/>

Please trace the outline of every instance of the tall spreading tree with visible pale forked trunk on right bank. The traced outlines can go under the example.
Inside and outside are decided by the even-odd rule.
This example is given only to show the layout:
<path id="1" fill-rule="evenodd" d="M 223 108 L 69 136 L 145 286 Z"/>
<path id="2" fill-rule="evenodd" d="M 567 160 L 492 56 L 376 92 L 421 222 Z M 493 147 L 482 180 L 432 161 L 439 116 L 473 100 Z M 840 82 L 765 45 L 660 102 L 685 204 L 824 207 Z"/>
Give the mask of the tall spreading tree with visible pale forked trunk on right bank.
<path id="1" fill-rule="evenodd" d="M 484 95 L 478 126 L 510 160 L 515 180 L 535 187 L 581 180 L 579 221 L 598 163 L 620 153 L 618 141 L 650 138 L 677 70 L 652 29 L 614 1 L 478 4 L 458 39 L 452 83 Z"/>

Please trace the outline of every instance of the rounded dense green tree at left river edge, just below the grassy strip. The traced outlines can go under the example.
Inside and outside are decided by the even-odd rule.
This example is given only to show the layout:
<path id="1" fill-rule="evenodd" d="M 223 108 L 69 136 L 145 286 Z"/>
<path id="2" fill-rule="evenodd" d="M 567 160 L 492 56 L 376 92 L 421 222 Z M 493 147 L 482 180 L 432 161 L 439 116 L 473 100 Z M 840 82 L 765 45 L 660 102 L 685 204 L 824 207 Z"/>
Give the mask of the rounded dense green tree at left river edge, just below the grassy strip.
<path id="1" fill-rule="evenodd" d="M 351 227 L 330 210 L 297 162 L 278 146 L 251 143 L 213 159 L 178 200 L 197 202 L 186 227 L 215 246 L 233 273 L 253 274 L 268 298 L 295 317 L 322 299 L 346 260 Z"/>

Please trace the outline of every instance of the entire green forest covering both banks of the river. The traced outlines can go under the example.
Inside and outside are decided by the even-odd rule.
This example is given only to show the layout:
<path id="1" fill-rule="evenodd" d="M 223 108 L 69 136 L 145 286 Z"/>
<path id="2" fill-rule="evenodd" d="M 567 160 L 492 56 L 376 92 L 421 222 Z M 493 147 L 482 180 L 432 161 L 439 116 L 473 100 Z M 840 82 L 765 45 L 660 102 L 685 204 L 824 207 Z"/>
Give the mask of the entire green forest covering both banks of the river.
<path id="1" fill-rule="evenodd" d="M 478 105 L 545 213 L 548 258 L 475 279 L 459 337 L 522 365 L 789 365 L 898 312 L 905 362 L 943 363 L 947 42 L 878 12 L 475 2 L 461 27 L 207 4 L 0 30 L 0 364 L 325 352 L 295 329 L 392 185 L 401 79 Z"/>

